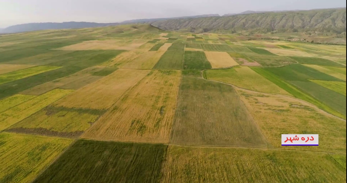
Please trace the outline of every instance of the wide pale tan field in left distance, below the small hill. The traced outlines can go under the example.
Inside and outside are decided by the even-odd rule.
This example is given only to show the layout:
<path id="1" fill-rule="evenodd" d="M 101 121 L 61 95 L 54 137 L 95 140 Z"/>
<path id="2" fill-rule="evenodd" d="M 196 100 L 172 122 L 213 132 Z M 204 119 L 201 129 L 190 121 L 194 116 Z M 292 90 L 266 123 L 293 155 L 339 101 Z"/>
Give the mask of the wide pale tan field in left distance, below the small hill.
<path id="1" fill-rule="evenodd" d="M 93 40 L 64 46 L 58 50 L 134 50 L 143 43 L 120 43 L 118 40 Z"/>

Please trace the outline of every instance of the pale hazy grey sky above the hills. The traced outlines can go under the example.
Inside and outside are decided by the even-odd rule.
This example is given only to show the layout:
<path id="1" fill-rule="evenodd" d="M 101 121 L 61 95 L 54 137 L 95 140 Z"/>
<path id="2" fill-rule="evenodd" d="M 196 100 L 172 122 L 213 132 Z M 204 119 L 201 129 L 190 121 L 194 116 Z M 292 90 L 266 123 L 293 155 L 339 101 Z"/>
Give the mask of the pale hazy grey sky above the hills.
<path id="1" fill-rule="evenodd" d="M 346 0 L 0 0 L 0 28 L 32 22 L 114 23 L 141 18 L 346 7 Z"/>

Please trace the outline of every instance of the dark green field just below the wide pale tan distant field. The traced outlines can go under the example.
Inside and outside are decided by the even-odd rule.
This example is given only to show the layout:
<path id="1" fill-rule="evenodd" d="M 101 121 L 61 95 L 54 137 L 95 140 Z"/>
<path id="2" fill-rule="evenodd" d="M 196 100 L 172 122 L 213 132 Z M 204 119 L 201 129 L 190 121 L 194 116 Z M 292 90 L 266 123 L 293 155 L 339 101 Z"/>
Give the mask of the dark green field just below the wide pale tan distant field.
<path id="1" fill-rule="evenodd" d="M 64 54 L 59 61 L 49 63 L 49 66 L 91 67 L 106 62 L 125 50 L 80 50 Z M 64 58 L 64 60 L 61 60 Z"/>

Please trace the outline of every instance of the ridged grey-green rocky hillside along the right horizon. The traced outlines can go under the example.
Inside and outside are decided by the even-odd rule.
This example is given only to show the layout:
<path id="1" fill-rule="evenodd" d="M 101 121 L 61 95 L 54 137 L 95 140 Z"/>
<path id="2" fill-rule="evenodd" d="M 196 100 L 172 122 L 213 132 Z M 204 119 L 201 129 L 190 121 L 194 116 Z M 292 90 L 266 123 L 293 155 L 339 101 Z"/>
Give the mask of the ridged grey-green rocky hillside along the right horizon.
<path id="1" fill-rule="evenodd" d="M 196 33 L 244 29 L 263 32 L 289 30 L 342 33 L 346 32 L 346 8 L 162 20 L 155 21 L 152 25 L 164 30 L 188 30 Z"/>

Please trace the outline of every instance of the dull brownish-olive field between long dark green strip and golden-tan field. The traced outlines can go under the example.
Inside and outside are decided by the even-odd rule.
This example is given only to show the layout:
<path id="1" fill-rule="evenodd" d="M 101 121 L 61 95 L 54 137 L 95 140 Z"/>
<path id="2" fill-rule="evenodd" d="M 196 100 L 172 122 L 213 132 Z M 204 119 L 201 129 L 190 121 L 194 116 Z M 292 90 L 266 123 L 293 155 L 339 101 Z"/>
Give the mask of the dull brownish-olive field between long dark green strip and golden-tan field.
<path id="1" fill-rule="evenodd" d="M 42 85 L 35 86 L 20 92 L 20 94 L 26 95 L 41 95 L 46 93 L 54 88 L 61 89 L 79 89 L 85 85 L 88 85 L 98 79 L 101 79 L 102 76 L 92 76 L 92 73 L 101 70 L 102 67 L 90 67 L 79 71 L 71 76 L 56 79 L 50 82 L 46 82 Z"/>

